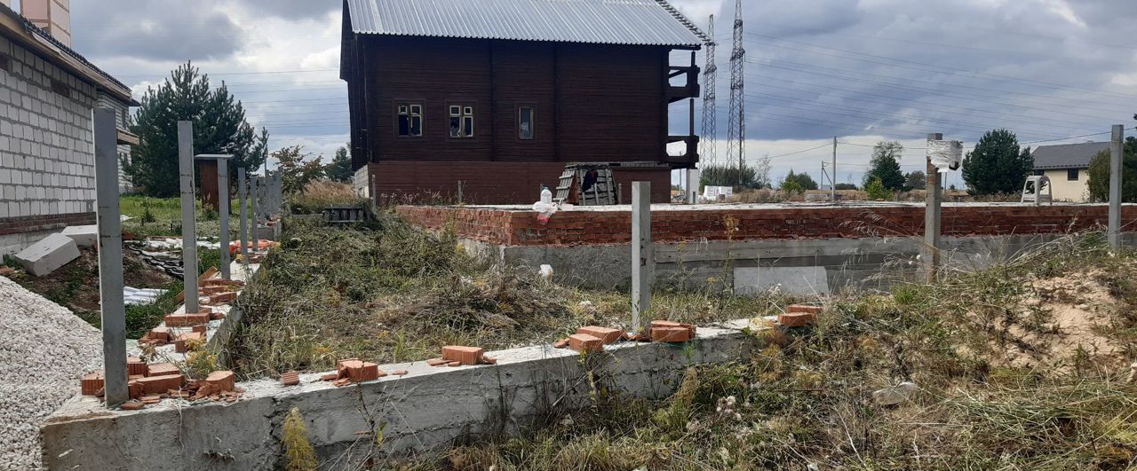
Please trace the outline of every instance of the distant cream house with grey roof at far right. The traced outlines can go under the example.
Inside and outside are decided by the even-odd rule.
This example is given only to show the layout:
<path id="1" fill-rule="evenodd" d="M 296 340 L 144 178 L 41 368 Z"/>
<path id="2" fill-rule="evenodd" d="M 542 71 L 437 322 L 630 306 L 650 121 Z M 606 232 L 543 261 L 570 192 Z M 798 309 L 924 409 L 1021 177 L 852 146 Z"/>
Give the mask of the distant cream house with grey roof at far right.
<path id="1" fill-rule="evenodd" d="M 1043 145 L 1032 153 L 1035 174 L 1051 178 L 1054 201 L 1089 201 L 1089 161 L 1109 150 L 1109 142 Z"/>

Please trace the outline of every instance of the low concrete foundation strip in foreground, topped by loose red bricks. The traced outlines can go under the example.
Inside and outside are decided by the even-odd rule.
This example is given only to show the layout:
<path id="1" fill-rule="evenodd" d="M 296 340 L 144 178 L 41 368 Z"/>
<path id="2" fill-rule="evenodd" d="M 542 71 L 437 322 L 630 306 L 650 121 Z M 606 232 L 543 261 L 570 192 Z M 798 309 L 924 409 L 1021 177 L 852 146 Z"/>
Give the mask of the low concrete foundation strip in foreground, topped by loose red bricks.
<path id="1" fill-rule="evenodd" d="M 107 411 L 94 397 L 76 397 L 44 424 L 44 464 L 51 469 L 267 470 L 283 468 L 281 429 L 293 407 L 327 469 L 346 469 L 373 456 L 382 427 L 382 453 L 439 451 L 456 440 L 517 434 L 556 411 L 590 404 L 595 387 L 662 398 L 686 368 L 738 360 L 757 346 L 744 334 L 748 321 L 700 328 L 686 344 L 617 344 L 581 355 L 550 346 L 491 352 L 495 365 L 387 364 L 404 377 L 337 388 L 301 375 L 301 384 L 243 382 L 232 404 L 164 401 L 141 411 Z"/>

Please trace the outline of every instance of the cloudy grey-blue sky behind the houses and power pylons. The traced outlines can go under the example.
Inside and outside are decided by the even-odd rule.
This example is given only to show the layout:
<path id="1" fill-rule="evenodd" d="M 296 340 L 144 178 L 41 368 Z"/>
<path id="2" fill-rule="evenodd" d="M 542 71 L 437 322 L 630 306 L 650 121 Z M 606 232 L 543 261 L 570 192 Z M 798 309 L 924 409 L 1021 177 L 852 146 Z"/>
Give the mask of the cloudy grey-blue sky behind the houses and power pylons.
<path id="1" fill-rule="evenodd" d="M 1127 0 L 742 2 L 746 157 L 771 157 L 774 179 L 794 169 L 821 180 L 835 136 L 837 182 L 860 184 L 881 140 L 905 145 L 908 171 L 923 169 L 928 133 L 971 146 L 1003 127 L 1037 146 L 1104 141 L 1110 125 L 1137 125 L 1137 48 L 1124 34 L 1137 10 Z M 704 30 L 716 18 L 719 161 L 727 160 L 733 3 L 673 0 Z M 74 48 L 136 96 L 192 60 L 268 128 L 273 149 L 331 155 L 348 141 L 340 8 L 338 0 L 75 0 L 72 28 Z M 704 52 L 697 60 L 704 65 Z M 673 133 L 686 131 L 686 103 L 671 111 Z M 960 179 L 954 173 L 948 184 Z"/>

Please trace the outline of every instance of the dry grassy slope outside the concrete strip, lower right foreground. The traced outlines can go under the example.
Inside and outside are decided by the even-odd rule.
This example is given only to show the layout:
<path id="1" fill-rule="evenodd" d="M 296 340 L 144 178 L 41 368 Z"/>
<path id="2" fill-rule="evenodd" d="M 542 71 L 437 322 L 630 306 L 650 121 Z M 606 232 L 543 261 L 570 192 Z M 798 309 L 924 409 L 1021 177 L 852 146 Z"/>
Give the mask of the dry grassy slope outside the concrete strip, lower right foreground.
<path id="1" fill-rule="evenodd" d="M 1137 465 L 1137 386 L 1090 355 L 1060 370 L 1003 364 L 1001 316 L 1036 279 L 1097 272 L 1109 337 L 1132 342 L 1137 266 L 1072 236 L 981 272 L 841 297 L 808 331 L 745 361 L 691 370 L 671 399 L 601 396 L 523 438 L 391 464 L 420 470 L 1126 470 Z M 1045 309 L 1045 308 L 1044 308 Z M 1012 323 L 1029 330 L 1029 318 Z M 1129 361 L 1135 352 L 1128 352 Z M 897 406 L 871 393 L 914 381 Z M 603 387 L 600 390 L 606 390 Z M 815 468 L 813 468 L 815 466 Z"/>

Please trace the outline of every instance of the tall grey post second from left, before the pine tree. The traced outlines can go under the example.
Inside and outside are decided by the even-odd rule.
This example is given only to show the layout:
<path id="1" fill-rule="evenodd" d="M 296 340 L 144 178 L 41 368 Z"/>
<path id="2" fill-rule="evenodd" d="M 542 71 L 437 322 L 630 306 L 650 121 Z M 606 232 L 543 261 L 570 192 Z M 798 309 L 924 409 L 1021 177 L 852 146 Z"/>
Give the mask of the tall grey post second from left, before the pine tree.
<path id="1" fill-rule="evenodd" d="M 198 234 L 193 197 L 193 121 L 177 121 L 179 173 L 182 177 L 182 274 L 185 312 L 198 312 Z"/>

